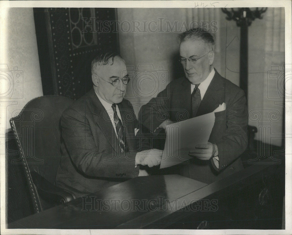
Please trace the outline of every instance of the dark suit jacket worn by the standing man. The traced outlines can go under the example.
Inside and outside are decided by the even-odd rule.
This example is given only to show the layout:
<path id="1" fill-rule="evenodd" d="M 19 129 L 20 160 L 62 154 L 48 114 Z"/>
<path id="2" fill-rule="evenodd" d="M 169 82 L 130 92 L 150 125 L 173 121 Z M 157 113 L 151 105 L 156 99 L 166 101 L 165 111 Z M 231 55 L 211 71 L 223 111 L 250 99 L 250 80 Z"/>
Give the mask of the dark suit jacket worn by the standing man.
<path id="1" fill-rule="evenodd" d="M 156 98 L 142 106 L 139 117 L 152 133 L 167 118 L 182 121 L 192 117 L 191 83 L 187 78 L 171 81 Z M 215 143 L 219 153 L 219 169 L 213 160 L 196 158 L 191 164 L 180 166 L 183 176 L 211 183 L 243 169 L 239 155 L 247 146 L 248 112 L 243 90 L 220 76 L 215 75 L 200 103 L 196 116 L 213 112 L 225 102 L 226 109 L 215 113 L 215 124 L 209 142 Z"/>

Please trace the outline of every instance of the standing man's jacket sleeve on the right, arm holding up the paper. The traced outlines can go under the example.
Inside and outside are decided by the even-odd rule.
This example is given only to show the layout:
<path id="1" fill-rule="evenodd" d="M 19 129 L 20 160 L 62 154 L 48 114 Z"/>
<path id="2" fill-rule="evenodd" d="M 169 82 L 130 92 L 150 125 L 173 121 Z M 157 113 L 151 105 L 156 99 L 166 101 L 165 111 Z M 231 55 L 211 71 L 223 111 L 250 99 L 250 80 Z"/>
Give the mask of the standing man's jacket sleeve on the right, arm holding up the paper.
<path id="1" fill-rule="evenodd" d="M 226 128 L 223 137 L 215 144 L 218 147 L 219 168 L 211 161 L 216 171 L 225 169 L 247 147 L 248 111 L 244 92 L 240 90 L 229 100 L 226 107 Z"/>

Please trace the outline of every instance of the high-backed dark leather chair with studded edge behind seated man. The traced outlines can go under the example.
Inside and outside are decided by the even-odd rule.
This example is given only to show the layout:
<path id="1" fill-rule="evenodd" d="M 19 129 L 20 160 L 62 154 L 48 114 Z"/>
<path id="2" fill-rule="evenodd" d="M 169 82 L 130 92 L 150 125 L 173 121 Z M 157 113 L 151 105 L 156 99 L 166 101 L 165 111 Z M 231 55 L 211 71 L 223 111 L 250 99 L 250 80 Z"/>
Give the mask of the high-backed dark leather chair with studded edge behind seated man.
<path id="1" fill-rule="evenodd" d="M 72 102 L 57 95 L 38 97 L 10 119 L 20 152 L 12 164 L 24 167 L 34 212 L 75 199 L 72 192 L 55 186 L 61 157 L 60 117 Z"/>

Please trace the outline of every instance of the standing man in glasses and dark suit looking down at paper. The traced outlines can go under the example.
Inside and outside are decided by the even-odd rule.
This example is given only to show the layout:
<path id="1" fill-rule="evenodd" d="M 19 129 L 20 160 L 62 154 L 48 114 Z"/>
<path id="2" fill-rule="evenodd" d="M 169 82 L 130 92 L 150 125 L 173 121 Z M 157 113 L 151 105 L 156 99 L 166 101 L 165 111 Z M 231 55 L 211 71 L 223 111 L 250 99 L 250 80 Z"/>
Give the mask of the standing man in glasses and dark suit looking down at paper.
<path id="1" fill-rule="evenodd" d="M 215 112 L 215 124 L 209 142 L 196 145 L 188 153 L 193 158 L 181 164 L 180 174 L 205 183 L 212 183 L 243 169 L 239 155 L 247 146 L 248 112 L 243 90 L 220 76 L 213 67 L 214 38 L 193 28 L 179 36 L 180 63 L 185 77 L 171 81 L 156 98 L 142 106 L 139 117 L 152 133 L 166 129 L 167 123 Z M 158 111 L 168 113 L 162 120 Z"/>

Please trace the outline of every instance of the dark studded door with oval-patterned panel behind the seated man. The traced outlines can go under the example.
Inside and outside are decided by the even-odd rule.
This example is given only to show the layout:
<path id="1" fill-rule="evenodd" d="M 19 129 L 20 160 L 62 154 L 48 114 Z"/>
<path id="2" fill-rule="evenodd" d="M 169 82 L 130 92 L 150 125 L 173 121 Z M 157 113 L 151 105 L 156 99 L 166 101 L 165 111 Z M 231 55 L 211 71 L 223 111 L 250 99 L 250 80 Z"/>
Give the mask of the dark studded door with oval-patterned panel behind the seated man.
<path id="1" fill-rule="evenodd" d="M 73 99 L 92 87 L 91 61 L 97 52 L 119 52 L 114 8 L 34 8 L 44 95 Z"/>

